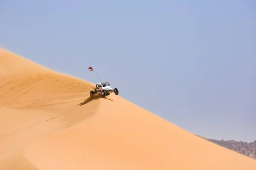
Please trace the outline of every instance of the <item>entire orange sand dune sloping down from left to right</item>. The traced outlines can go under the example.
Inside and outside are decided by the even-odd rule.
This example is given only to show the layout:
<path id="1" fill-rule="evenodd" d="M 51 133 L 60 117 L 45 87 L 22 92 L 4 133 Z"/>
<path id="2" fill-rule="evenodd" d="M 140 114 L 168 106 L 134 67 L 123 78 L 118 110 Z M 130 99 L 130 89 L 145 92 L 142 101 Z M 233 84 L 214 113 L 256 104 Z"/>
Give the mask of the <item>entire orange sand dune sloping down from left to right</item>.
<path id="1" fill-rule="evenodd" d="M 0 50 L 0 169 L 256 170 L 120 96 L 87 99 L 92 86 Z"/>

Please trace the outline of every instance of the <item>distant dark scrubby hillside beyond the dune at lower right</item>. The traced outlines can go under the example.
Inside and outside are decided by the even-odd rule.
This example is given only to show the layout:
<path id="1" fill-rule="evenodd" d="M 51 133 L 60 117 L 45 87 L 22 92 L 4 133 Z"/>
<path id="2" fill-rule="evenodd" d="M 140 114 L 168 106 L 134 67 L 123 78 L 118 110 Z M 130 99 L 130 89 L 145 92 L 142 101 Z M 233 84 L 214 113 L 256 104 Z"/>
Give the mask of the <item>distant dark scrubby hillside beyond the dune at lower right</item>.
<path id="1" fill-rule="evenodd" d="M 199 136 L 199 135 L 196 135 L 196 136 Z M 201 138 L 204 138 L 202 136 L 199 136 Z M 256 141 L 254 142 L 250 142 L 250 143 L 247 143 L 247 142 L 237 142 L 237 141 L 234 141 L 234 140 L 228 140 L 228 141 L 225 141 L 225 140 L 215 140 L 215 139 L 207 139 L 207 138 L 204 138 L 210 142 L 213 142 L 215 144 L 218 144 L 222 147 L 226 147 L 230 150 L 234 150 L 238 153 L 241 153 L 245 156 L 249 156 L 250 158 L 252 159 L 256 159 Z"/>

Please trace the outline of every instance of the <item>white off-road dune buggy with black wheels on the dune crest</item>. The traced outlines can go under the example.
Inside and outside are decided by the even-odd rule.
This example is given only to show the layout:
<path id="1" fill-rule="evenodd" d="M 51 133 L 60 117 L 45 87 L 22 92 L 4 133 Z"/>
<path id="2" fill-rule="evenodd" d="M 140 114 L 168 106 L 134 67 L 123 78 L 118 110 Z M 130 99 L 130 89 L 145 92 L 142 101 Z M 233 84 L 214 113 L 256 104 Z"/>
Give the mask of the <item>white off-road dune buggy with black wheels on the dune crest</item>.
<path id="1" fill-rule="evenodd" d="M 93 94 L 100 94 L 102 97 L 105 97 L 112 92 L 116 95 L 119 94 L 117 88 L 111 88 L 108 82 L 97 83 L 94 91 L 90 91 L 90 97 L 93 97 Z"/>

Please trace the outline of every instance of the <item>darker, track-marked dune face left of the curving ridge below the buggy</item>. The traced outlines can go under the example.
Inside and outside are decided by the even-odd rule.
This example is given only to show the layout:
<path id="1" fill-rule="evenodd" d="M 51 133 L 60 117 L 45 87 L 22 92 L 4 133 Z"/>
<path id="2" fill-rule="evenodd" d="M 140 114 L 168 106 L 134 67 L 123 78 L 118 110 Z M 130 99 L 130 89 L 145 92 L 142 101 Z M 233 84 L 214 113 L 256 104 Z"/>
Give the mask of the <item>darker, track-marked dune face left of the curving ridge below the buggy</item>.
<path id="1" fill-rule="evenodd" d="M 100 100 L 87 105 L 93 84 L 0 50 L 0 169 L 36 169 L 23 157 L 35 139 L 90 119 Z"/>

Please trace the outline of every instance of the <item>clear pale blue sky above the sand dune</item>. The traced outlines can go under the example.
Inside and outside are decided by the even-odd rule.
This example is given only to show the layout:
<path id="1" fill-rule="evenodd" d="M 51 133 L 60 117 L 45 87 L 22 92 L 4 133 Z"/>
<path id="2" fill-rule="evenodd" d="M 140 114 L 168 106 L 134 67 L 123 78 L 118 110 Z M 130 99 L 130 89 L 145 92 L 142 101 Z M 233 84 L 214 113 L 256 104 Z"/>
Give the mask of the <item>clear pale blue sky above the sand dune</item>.
<path id="1" fill-rule="evenodd" d="M 192 133 L 256 140 L 254 0 L 1 0 L 0 20 L 3 48 L 97 83 L 92 66 Z"/>

